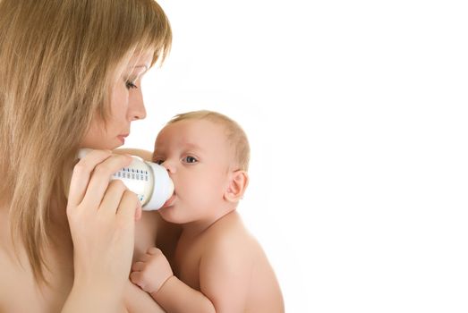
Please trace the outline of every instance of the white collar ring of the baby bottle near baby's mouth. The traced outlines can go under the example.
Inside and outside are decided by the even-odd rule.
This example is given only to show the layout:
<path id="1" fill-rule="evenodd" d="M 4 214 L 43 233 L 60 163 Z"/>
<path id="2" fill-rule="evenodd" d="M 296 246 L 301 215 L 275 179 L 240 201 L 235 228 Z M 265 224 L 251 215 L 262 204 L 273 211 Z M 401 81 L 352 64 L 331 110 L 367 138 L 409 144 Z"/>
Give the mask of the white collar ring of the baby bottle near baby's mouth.
<path id="1" fill-rule="evenodd" d="M 174 193 L 174 182 L 169 177 L 166 167 L 152 162 L 145 162 L 153 171 L 154 186 L 147 204 L 143 206 L 145 210 L 157 210 L 162 207 L 167 199 Z"/>

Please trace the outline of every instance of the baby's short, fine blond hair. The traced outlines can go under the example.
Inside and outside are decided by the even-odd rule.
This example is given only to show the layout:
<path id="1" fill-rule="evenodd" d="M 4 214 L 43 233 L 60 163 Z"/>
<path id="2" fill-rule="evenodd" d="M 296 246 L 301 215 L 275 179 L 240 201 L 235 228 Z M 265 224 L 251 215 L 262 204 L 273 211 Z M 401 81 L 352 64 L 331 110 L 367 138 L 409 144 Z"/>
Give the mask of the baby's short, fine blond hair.
<path id="1" fill-rule="evenodd" d="M 184 120 L 208 120 L 210 122 L 223 125 L 226 131 L 226 138 L 234 148 L 234 162 L 238 166 L 239 170 L 247 172 L 251 158 L 251 148 L 245 131 L 243 131 L 243 128 L 238 123 L 227 117 L 225 114 L 208 110 L 200 110 L 177 114 L 167 123 L 167 125 Z"/>

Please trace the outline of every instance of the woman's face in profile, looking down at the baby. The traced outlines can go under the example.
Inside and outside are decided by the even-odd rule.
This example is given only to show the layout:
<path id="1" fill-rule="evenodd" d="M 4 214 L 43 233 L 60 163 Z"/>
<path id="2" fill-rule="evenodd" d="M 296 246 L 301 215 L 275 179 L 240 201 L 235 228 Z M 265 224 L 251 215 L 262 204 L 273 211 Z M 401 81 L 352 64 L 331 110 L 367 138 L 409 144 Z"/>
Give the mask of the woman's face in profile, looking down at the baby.
<path id="1" fill-rule="evenodd" d="M 141 94 L 141 77 L 148 71 L 153 53 L 133 55 L 122 77 L 111 90 L 110 116 L 106 123 L 93 118 L 81 148 L 114 149 L 122 146 L 130 134 L 130 124 L 144 119 L 146 110 Z"/>

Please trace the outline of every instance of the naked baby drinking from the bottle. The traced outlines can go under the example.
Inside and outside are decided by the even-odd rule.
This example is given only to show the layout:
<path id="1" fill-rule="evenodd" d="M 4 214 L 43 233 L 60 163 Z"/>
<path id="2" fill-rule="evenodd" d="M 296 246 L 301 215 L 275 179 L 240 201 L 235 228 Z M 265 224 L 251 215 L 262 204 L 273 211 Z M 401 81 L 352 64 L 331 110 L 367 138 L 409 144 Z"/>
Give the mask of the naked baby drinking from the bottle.
<path id="1" fill-rule="evenodd" d="M 157 135 L 153 162 L 175 187 L 158 212 L 182 233 L 174 256 L 150 248 L 131 279 L 167 312 L 284 312 L 273 269 L 235 211 L 249 157 L 244 131 L 216 112 L 176 115 Z"/>

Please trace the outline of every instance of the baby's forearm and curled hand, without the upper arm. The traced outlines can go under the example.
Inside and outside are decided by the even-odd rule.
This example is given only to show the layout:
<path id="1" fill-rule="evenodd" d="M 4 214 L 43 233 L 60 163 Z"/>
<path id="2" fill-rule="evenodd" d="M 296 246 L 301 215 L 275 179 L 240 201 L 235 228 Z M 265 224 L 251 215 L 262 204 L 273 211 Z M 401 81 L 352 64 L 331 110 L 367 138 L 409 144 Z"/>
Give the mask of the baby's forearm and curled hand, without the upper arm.
<path id="1" fill-rule="evenodd" d="M 130 278 L 169 313 L 215 312 L 213 304 L 203 293 L 173 275 L 169 262 L 157 248 L 150 248 L 139 262 L 133 264 Z"/>

